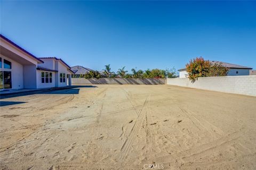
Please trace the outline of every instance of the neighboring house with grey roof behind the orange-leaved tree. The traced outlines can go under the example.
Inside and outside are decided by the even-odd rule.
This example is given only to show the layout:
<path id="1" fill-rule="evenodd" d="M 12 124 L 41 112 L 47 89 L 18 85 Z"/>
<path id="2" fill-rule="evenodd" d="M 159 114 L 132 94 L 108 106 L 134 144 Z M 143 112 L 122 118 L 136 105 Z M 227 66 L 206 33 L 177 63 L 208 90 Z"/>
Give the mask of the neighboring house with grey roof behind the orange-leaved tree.
<path id="1" fill-rule="evenodd" d="M 210 61 L 212 64 L 214 63 L 221 63 L 223 67 L 226 67 L 229 69 L 228 76 L 247 76 L 250 75 L 250 70 L 252 68 L 245 67 L 245 66 L 239 66 L 237 64 L 230 64 L 227 62 L 220 62 L 220 61 Z M 180 72 L 179 78 L 186 78 L 188 77 L 188 72 L 186 68 L 179 69 Z"/>

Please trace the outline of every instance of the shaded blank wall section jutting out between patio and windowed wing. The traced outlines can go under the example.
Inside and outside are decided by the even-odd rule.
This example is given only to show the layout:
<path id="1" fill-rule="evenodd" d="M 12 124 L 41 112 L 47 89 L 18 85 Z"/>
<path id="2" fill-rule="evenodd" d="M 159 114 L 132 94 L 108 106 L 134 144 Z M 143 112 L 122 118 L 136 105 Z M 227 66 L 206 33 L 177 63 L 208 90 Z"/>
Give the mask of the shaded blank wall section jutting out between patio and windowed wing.
<path id="1" fill-rule="evenodd" d="M 36 65 L 24 65 L 24 88 L 37 88 L 36 84 Z"/>

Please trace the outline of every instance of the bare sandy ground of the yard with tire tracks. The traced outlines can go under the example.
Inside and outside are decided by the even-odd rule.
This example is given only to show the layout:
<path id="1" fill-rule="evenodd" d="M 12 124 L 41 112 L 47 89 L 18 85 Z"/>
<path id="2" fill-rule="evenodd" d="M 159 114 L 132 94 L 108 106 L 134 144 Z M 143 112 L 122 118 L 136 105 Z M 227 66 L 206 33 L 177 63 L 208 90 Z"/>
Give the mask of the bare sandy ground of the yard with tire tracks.
<path id="1" fill-rule="evenodd" d="M 255 97 L 95 86 L 2 99 L 1 169 L 256 169 Z"/>

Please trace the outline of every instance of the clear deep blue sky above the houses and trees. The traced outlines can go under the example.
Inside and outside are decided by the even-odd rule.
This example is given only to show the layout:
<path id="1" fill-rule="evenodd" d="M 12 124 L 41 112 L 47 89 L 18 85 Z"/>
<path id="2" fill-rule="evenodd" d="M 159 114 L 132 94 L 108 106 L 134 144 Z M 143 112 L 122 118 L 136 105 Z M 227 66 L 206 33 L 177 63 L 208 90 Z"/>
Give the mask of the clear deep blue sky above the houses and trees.
<path id="1" fill-rule="evenodd" d="M 256 2 L 1 1 L 1 34 L 36 56 L 113 71 L 203 56 L 256 69 Z"/>

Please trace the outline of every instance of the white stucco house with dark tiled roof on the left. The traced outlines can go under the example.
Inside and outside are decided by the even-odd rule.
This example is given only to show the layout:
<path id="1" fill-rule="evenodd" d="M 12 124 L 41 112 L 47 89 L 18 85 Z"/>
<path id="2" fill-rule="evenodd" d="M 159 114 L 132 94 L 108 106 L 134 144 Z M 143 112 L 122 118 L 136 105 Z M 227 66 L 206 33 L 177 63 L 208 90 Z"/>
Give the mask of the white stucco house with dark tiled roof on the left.
<path id="1" fill-rule="evenodd" d="M 0 90 L 71 85 L 73 71 L 55 57 L 37 58 L 0 34 Z"/>

